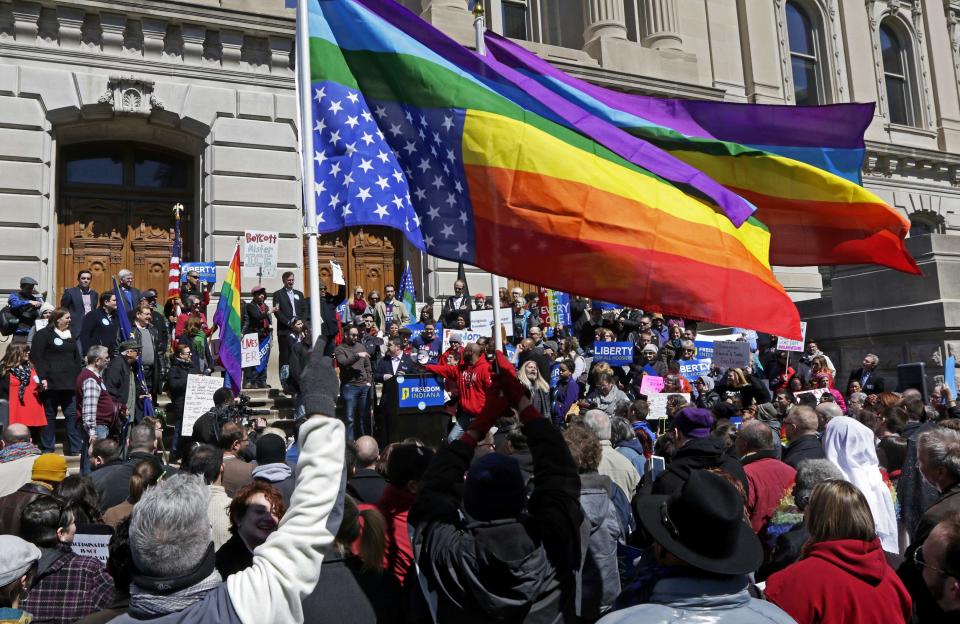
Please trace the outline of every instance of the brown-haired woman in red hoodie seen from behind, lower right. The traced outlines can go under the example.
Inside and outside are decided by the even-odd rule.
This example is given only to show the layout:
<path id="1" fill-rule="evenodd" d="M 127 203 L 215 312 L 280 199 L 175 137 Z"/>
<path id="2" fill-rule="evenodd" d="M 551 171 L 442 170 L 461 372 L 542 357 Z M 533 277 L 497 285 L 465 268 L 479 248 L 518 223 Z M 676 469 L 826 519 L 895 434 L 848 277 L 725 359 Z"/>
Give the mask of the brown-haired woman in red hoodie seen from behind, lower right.
<path id="1" fill-rule="evenodd" d="M 903 624 L 912 602 L 887 563 L 867 499 L 847 481 L 817 485 L 799 561 L 767 580 L 767 599 L 798 624 Z"/>

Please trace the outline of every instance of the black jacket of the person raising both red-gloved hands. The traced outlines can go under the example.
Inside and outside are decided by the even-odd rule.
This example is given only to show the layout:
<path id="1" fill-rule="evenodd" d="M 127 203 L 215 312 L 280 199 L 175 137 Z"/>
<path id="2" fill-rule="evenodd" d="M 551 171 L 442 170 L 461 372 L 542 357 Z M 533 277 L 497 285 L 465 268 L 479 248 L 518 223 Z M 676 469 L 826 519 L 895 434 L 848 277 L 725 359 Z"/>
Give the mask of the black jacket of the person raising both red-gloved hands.
<path id="1" fill-rule="evenodd" d="M 441 448 L 410 510 L 414 553 L 438 595 L 441 622 L 573 622 L 583 557 L 580 477 L 560 431 L 544 418 L 523 427 L 534 458 L 533 493 L 517 519 L 468 522 L 459 488 L 473 449 Z"/>

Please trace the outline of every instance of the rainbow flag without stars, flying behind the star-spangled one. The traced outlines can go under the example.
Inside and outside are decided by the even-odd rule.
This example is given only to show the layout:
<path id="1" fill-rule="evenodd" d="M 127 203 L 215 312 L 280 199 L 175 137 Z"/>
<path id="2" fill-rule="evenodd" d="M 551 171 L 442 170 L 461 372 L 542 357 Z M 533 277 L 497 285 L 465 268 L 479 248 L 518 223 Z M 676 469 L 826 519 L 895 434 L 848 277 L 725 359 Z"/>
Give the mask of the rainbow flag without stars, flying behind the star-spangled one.
<path id="1" fill-rule="evenodd" d="M 597 117 L 657 145 L 757 207 L 770 260 L 784 266 L 879 264 L 919 273 L 907 219 L 860 186 L 873 104 L 764 106 L 662 99 L 578 80 L 488 32 L 502 63 Z M 534 87 L 535 88 L 535 87 Z"/>

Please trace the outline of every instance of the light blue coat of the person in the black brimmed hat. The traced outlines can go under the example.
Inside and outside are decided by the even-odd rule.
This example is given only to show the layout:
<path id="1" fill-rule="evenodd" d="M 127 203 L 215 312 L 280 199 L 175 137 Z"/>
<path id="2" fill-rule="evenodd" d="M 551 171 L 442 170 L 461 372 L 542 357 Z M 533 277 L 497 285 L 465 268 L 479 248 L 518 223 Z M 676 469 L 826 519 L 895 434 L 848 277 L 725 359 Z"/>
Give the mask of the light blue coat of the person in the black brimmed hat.
<path id="1" fill-rule="evenodd" d="M 661 579 L 646 604 L 614 611 L 598 624 L 794 624 L 769 602 L 752 598 L 744 576 Z"/>

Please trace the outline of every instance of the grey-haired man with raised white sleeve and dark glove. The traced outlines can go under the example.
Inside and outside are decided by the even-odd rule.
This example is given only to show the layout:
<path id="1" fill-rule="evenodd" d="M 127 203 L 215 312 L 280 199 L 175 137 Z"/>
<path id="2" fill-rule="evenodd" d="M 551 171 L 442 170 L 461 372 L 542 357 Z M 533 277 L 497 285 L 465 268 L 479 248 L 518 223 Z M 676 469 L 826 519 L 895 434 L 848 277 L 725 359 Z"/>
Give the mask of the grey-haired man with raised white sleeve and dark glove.
<path id="1" fill-rule="evenodd" d="M 314 353 L 322 354 L 323 346 Z M 174 476 L 150 489 L 134 509 L 130 608 L 112 622 L 303 622 L 301 601 L 317 585 L 324 552 L 340 526 L 346 483 L 330 358 L 314 358 L 304 377 L 311 380 L 305 387 L 311 389 L 307 405 L 313 415 L 300 428 L 296 487 L 279 528 L 253 551 L 253 566 L 220 578 L 207 519 L 208 489 L 199 477 Z"/>

